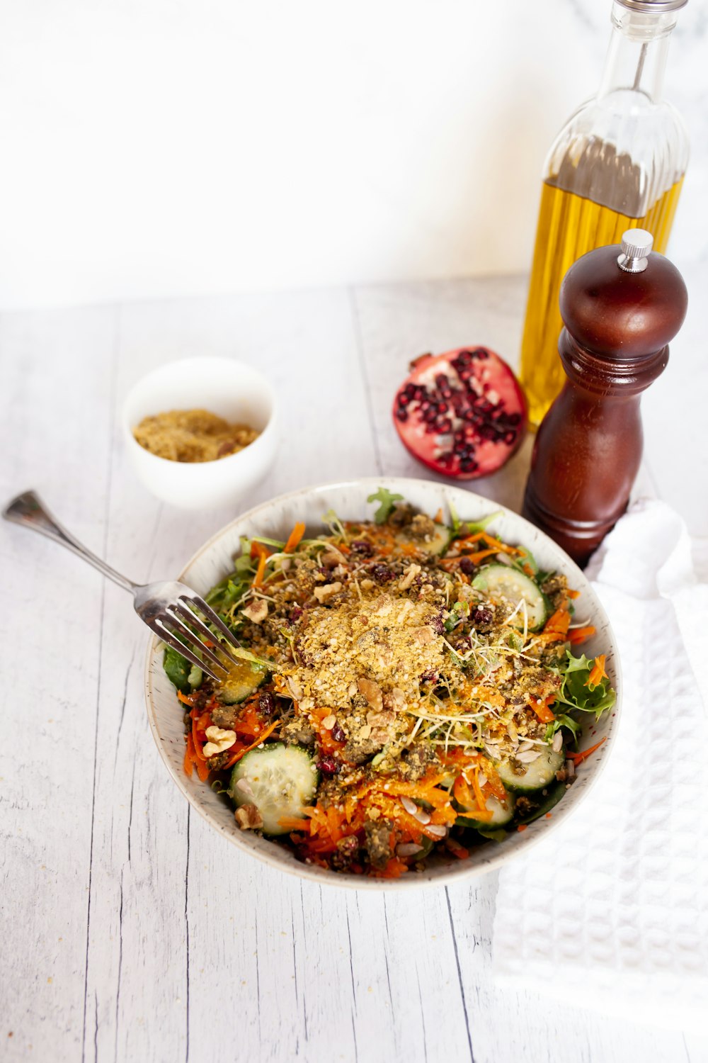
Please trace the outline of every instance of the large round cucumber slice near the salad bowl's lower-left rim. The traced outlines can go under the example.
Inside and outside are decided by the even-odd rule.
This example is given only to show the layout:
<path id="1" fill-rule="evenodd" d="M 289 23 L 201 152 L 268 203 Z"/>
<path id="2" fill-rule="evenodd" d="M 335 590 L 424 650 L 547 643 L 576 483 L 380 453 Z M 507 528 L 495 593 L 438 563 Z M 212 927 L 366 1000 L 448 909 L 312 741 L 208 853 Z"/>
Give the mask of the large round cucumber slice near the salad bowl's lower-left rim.
<path id="1" fill-rule="evenodd" d="M 301 816 L 318 782 L 320 773 L 307 749 L 273 742 L 252 749 L 239 761 L 227 792 L 237 808 L 256 806 L 263 819 L 263 833 L 286 834 L 289 828 L 281 827 L 280 820 Z"/>

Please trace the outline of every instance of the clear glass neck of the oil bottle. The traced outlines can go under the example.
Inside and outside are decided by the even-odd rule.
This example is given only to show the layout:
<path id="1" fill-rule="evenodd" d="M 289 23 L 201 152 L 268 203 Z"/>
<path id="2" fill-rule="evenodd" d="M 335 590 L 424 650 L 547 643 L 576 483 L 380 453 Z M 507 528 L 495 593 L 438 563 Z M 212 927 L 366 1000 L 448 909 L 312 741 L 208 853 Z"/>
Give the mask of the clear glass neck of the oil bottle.
<path id="1" fill-rule="evenodd" d="M 661 99 L 676 15 L 675 11 L 653 14 L 612 4 L 612 35 L 598 99 L 622 89 L 642 92 L 653 103 Z"/>

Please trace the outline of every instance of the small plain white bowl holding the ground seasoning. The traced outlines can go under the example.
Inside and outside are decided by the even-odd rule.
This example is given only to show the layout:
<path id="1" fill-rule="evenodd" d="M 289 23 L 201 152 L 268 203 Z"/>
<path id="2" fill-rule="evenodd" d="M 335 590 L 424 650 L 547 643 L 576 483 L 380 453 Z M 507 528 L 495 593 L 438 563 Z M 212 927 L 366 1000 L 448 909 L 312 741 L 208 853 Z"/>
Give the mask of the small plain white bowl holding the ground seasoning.
<path id="1" fill-rule="evenodd" d="M 133 435 L 143 417 L 172 409 L 208 409 L 260 432 L 237 454 L 215 461 L 170 461 Z M 183 358 L 148 373 L 123 403 L 123 434 L 133 467 L 149 491 L 182 509 L 209 509 L 243 497 L 266 474 L 278 444 L 276 398 L 270 382 L 231 358 Z"/>

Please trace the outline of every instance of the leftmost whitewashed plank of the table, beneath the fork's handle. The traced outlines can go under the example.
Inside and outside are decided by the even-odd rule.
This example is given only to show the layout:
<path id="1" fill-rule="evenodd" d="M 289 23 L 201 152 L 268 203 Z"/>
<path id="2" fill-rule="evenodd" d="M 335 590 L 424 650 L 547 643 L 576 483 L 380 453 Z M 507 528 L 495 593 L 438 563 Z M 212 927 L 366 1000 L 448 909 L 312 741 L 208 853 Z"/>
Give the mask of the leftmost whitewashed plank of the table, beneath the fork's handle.
<path id="1" fill-rule="evenodd" d="M 116 311 L 0 320 L 0 495 L 29 487 L 105 547 Z M 96 714 L 104 681 L 101 577 L 48 540 L 0 526 L 0 1054 L 79 1060 Z M 12 1035 L 11 1035 L 12 1034 Z"/>

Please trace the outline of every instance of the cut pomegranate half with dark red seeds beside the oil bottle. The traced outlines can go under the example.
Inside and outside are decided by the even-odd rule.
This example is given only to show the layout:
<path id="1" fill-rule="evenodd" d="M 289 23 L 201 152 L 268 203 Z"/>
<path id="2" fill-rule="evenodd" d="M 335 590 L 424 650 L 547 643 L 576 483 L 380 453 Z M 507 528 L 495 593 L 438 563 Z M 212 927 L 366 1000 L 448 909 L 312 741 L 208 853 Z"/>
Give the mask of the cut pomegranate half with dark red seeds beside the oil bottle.
<path id="1" fill-rule="evenodd" d="M 424 354 L 394 400 L 394 424 L 413 457 L 455 479 L 501 469 L 526 427 L 526 401 L 506 362 L 486 347 Z"/>

